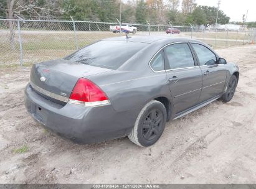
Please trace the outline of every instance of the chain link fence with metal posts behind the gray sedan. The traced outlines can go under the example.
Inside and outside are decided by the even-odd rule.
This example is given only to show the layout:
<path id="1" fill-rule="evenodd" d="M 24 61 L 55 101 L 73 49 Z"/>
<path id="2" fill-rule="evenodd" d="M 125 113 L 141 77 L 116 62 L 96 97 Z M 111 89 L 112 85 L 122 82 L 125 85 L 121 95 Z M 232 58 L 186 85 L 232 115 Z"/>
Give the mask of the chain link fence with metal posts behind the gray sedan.
<path id="1" fill-rule="evenodd" d="M 0 65 L 31 64 L 62 58 L 108 37 L 125 36 L 120 23 L 91 21 L 43 21 L 0 19 Z M 122 24 L 123 25 L 123 24 Z M 254 43 L 256 30 L 216 30 L 194 26 L 132 24 L 136 34 L 188 37 L 214 48 Z M 166 34 L 166 29 L 172 32 Z M 118 30 L 119 28 L 119 30 Z M 179 32 L 177 32 L 179 31 Z M 179 34 L 177 34 L 179 33 Z"/>

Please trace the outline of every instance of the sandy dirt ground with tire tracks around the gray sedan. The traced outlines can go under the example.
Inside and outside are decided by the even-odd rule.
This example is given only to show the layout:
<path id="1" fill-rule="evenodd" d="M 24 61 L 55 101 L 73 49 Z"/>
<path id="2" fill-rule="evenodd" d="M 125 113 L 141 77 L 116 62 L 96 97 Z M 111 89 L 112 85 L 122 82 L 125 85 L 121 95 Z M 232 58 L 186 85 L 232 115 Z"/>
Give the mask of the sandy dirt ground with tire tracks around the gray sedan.
<path id="1" fill-rule="evenodd" d="M 229 103 L 168 122 L 148 148 L 127 137 L 80 145 L 26 113 L 29 68 L 0 69 L 0 183 L 256 183 L 256 45 L 217 50 L 240 66 Z"/>

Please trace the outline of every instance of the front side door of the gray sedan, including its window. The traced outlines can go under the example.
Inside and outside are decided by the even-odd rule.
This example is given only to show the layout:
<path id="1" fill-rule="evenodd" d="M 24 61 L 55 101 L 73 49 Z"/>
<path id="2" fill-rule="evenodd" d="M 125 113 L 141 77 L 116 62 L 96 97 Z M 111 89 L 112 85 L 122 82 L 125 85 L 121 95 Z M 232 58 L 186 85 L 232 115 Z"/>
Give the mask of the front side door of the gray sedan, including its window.
<path id="1" fill-rule="evenodd" d="M 224 90 L 226 71 L 222 64 L 217 63 L 214 52 L 202 44 L 191 43 L 202 70 L 203 83 L 199 103 L 221 94 Z"/>

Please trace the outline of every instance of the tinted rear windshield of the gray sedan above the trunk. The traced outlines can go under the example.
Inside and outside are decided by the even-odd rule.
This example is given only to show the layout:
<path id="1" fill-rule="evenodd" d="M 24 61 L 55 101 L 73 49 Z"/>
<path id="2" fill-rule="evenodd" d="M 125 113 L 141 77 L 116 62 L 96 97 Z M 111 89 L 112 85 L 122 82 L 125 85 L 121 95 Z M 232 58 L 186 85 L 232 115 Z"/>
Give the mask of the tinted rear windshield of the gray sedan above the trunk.
<path id="1" fill-rule="evenodd" d="M 100 40 L 65 57 L 65 60 L 115 70 L 146 45 L 140 42 Z"/>

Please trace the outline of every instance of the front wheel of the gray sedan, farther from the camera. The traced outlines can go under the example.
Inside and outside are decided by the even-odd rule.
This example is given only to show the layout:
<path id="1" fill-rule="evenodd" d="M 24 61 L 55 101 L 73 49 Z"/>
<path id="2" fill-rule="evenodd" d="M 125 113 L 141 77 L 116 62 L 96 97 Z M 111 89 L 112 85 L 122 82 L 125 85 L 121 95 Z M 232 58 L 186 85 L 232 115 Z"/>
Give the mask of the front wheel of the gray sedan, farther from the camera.
<path id="1" fill-rule="evenodd" d="M 224 103 L 229 102 L 235 94 L 236 87 L 237 77 L 235 75 L 232 75 L 230 77 L 229 83 L 227 84 L 227 91 L 220 97 L 220 100 L 224 101 Z"/>

